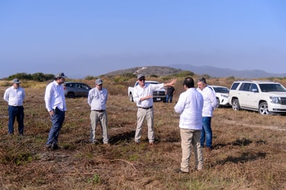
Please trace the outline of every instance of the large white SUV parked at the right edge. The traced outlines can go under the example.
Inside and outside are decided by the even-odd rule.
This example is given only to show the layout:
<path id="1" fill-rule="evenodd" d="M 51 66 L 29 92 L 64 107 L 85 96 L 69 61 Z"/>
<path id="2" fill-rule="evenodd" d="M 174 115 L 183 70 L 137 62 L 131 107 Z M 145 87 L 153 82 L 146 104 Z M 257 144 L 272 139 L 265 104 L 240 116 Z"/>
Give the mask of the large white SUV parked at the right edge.
<path id="1" fill-rule="evenodd" d="M 268 81 L 235 81 L 230 87 L 228 103 L 233 110 L 286 114 L 286 89 L 280 83 Z"/>

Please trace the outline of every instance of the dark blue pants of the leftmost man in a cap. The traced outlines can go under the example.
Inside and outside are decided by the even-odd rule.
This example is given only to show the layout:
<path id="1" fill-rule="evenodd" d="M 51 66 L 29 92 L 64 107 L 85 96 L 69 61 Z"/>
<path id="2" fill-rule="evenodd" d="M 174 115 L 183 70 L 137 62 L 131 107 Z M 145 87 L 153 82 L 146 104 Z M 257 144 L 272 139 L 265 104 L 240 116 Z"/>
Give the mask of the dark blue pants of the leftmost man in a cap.
<path id="1" fill-rule="evenodd" d="M 15 118 L 17 118 L 18 122 L 18 132 L 19 135 L 23 135 L 24 132 L 24 107 L 23 106 L 8 106 L 8 114 L 9 114 L 9 121 L 8 121 L 8 133 L 14 134 L 14 123 Z"/>

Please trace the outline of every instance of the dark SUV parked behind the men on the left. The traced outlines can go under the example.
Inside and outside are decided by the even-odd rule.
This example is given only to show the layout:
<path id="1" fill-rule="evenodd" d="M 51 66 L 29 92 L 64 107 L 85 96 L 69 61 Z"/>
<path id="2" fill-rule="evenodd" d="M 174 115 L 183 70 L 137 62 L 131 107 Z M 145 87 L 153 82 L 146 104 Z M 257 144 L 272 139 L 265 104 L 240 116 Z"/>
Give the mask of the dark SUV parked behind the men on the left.
<path id="1" fill-rule="evenodd" d="M 92 89 L 85 83 L 67 82 L 63 84 L 65 96 L 67 98 L 87 97 L 88 92 Z"/>

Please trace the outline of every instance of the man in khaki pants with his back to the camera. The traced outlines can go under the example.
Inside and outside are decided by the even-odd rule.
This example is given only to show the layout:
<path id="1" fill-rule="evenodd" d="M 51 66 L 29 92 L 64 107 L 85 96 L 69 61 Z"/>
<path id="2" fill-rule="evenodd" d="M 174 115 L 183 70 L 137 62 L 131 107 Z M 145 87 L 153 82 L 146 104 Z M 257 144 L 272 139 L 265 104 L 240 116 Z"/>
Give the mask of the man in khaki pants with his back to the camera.
<path id="1" fill-rule="evenodd" d="M 190 77 L 183 82 L 185 92 L 180 94 L 174 110 L 180 114 L 180 139 L 182 161 L 179 173 L 189 173 L 191 148 L 194 148 L 197 170 L 203 169 L 203 153 L 201 150 L 201 129 L 203 96 L 194 88 L 194 80 Z"/>

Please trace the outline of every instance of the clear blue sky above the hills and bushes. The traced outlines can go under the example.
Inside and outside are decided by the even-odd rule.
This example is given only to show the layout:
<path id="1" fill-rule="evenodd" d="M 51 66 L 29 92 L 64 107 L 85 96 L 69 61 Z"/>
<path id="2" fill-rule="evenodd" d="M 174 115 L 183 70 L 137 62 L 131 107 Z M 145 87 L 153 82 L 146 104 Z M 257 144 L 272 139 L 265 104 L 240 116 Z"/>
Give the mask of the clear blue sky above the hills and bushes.
<path id="1" fill-rule="evenodd" d="M 285 0 L 0 0 L 0 78 L 171 64 L 286 72 Z"/>

